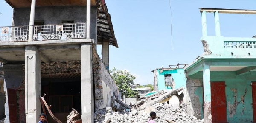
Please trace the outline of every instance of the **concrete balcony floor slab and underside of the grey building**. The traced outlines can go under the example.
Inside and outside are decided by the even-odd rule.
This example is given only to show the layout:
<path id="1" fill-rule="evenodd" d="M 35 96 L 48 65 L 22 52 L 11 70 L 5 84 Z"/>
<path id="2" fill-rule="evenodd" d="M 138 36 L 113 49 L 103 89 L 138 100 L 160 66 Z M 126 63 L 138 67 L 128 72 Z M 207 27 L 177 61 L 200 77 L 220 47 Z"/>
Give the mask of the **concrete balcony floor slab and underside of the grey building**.
<path id="1" fill-rule="evenodd" d="M 92 39 L 64 39 L 33 42 L 1 42 L 0 61 L 15 63 L 25 61 L 25 46 L 35 45 L 41 52 L 41 60 L 71 61 L 81 60 L 81 43 L 91 43 Z M 4 63 L 5 64 L 5 63 Z"/>

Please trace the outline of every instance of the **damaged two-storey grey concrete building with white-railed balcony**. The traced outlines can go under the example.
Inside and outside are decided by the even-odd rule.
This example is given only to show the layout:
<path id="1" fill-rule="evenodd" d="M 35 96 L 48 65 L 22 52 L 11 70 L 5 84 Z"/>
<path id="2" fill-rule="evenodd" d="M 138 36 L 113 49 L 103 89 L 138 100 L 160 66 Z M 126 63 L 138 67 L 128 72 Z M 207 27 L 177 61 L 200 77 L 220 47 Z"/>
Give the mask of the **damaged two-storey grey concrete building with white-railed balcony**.
<path id="1" fill-rule="evenodd" d="M 63 123 L 73 108 L 93 123 L 96 110 L 116 105 L 108 66 L 109 45 L 118 45 L 105 0 L 5 1 L 13 8 L 12 26 L 0 27 L 5 123 L 37 123 L 44 94 Z"/>

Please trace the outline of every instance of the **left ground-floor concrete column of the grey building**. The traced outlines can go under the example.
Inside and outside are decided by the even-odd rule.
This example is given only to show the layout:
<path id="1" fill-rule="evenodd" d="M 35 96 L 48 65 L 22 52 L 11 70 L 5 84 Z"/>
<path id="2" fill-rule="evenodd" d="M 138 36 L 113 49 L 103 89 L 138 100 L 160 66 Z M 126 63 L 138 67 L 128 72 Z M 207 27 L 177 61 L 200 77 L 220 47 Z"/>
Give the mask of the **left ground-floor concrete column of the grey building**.
<path id="1" fill-rule="evenodd" d="M 37 123 L 41 114 L 41 59 L 36 46 L 25 46 L 26 123 Z"/>

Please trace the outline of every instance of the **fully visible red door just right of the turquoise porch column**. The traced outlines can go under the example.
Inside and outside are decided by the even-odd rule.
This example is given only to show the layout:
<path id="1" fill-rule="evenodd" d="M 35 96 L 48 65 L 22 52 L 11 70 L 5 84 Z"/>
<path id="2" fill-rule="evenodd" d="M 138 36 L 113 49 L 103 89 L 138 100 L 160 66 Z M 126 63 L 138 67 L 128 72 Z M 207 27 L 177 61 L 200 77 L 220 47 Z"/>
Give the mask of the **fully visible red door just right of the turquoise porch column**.
<path id="1" fill-rule="evenodd" d="M 211 82 L 212 123 L 227 123 L 225 82 Z"/>

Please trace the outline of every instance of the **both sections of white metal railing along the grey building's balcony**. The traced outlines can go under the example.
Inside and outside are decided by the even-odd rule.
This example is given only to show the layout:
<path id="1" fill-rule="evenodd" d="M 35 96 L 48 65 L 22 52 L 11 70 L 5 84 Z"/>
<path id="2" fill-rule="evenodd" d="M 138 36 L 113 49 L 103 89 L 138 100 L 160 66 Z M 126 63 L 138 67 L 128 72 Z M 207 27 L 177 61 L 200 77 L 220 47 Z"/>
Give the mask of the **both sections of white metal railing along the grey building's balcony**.
<path id="1" fill-rule="evenodd" d="M 86 38 L 86 24 L 35 25 L 33 41 Z M 0 27 L 0 42 L 27 42 L 29 26 Z"/>

